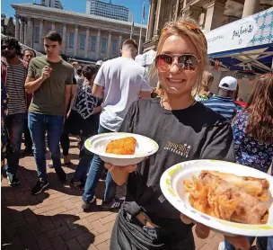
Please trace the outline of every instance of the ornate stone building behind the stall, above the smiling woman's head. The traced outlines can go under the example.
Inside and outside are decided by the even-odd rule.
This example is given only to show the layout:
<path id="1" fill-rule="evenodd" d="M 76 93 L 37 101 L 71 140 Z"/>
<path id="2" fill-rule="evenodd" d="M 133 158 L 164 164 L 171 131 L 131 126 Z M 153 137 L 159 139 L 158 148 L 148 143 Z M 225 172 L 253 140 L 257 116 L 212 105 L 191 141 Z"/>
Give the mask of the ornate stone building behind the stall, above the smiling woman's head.
<path id="1" fill-rule="evenodd" d="M 165 22 L 193 19 L 205 33 L 273 6 L 272 0 L 149 0 L 144 51 L 156 49 Z"/>

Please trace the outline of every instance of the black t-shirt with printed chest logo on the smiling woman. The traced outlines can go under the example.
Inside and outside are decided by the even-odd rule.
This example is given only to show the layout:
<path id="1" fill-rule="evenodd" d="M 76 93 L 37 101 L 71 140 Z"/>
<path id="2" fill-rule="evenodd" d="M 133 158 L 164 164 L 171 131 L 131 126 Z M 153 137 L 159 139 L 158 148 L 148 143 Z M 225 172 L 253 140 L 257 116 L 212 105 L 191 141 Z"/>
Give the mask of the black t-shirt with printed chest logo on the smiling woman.
<path id="1" fill-rule="evenodd" d="M 160 178 L 166 169 L 195 159 L 234 162 L 230 124 L 202 103 L 169 111 L 159 99 L 139 100 L 129 108 L 119 131 L 153 138 L 159 145 L 156 154 L 129 174 L 126 197 L 126 201 L 136 201 L 147 214 L 158 218 L 180 218 L 180 212 L 166 201 L 160 189 Z"/>

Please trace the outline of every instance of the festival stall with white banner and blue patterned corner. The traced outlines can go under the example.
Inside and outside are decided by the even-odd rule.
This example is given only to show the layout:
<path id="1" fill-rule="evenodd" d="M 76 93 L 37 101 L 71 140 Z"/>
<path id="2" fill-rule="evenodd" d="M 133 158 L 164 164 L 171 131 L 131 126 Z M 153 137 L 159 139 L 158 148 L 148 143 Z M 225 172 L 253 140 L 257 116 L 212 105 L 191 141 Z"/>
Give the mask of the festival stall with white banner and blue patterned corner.
<path id="1" fill-rule="evenodd" d="M 273 8 L 231 22 L 206 34 L 213 91 L 224 76 L 235 76 L 248 100 L 260 74 L 272 70 Z"/>

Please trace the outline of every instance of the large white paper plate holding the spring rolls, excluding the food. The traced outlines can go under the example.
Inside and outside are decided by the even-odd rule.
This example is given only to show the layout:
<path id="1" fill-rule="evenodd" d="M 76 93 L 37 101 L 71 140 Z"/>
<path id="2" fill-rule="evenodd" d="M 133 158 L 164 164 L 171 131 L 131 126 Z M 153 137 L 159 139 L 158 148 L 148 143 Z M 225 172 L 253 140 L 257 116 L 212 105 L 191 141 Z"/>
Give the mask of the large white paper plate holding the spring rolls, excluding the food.
<path id="1" fill-rule="evenodd" d="M 198 210 L 189 204 L 189 193 L 184 192 L 183 180 L 191 180 L 192 175 L 198 177 L 202 170 L 219 171 L 223 173 L 236 174 L 239 176 L 253 176 L 265 178 L 269 181 L 269 191 L 273 194 L 273 177 L 254 168 L 238 165 L 230 162 L 216 160 L 195 160 L 173 165 L 167 169 L 160 180 L 163 195 L 174 208 L 181 211 L 190 219 L 206 225 L 225 235 L 240 235 L 249 237 L 273 236 L 273 205 L 269 209 L 269 220 L 267 224 L 249 225 L 235 223 L 223 219 L 216 219 Z"/>

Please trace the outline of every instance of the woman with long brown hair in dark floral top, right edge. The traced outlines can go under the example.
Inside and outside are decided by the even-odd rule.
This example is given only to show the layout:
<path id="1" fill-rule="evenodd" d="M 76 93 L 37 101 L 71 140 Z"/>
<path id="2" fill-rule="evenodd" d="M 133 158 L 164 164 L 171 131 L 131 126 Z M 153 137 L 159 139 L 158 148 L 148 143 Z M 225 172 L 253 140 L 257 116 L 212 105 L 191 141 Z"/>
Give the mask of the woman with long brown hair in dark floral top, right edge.
<path id="1" fill-rule="evenodd" d="M 273 161 L 272 73 L 260 76 L 249 103 L 234 118 L 232 127 L 236 162 L 268 173 Z M 250 241 L 253 243 L 254 238 L 250 238 Z M 223 244 L 221 247 L 235 249 L 228 242 L 225 242 L 225 248 Z"/>

